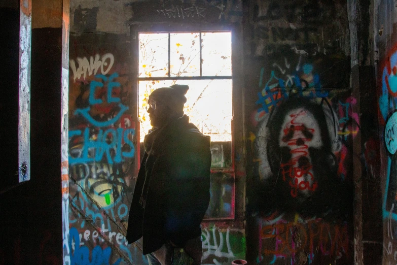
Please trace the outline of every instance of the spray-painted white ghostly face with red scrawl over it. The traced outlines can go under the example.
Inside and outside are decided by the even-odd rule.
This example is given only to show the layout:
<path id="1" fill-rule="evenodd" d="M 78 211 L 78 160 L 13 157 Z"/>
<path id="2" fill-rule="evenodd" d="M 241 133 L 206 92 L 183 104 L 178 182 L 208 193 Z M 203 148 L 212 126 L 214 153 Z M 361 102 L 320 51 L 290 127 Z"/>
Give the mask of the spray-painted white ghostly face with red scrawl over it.
<path id="1" fill-rule="evenodd" d="M 318 122 L 304 108 L 296 108 L 284 118 L 279 135 L 282 159 L 280 174 L 291 188 L 293 197 L 310 196 L 318 187 L 310 150 L 319 149 L 323 143 Z"/>

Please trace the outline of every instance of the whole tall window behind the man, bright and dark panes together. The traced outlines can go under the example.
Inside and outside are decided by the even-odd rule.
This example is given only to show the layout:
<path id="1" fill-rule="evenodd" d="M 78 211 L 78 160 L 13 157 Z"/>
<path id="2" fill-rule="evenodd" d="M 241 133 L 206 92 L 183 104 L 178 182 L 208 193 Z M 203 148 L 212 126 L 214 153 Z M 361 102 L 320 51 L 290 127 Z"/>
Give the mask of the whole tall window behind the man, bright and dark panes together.
<path id="1" fill-rule="evenodd" d="M 184 112 L 211 137 L 211 200 L 205 219 L 234 218 L 231 37 L 231 31 L 138 33 L 140 143 L 151 129 L 150 93 L 173 84 L 189 85 Z"/>

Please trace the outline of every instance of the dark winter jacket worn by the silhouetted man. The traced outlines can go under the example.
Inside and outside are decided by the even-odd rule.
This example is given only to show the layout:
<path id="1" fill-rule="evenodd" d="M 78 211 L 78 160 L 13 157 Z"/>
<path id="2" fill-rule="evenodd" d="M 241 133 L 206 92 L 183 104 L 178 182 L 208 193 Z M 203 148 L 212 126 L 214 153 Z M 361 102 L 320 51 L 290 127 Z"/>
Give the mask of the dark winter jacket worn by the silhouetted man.
<path id="1" fill-rule="evenodd" d="M 209 204 L 210 138 L 184 115 L 145 137 L 129 212 L 127 241 L 143 236 L 143 254 L 167 240 L 183 247 L 201 235 Z"/>

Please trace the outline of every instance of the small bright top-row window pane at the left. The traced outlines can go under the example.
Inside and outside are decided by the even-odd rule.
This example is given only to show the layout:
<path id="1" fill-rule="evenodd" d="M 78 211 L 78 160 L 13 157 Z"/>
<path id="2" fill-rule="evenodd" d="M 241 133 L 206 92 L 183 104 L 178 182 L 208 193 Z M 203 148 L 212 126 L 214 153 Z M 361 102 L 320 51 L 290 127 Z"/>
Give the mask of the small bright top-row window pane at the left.
<path id="1" fill-rule="evenodd" d="M 139 34 L 139 77 L 168 76 L 168 34 Z"/>

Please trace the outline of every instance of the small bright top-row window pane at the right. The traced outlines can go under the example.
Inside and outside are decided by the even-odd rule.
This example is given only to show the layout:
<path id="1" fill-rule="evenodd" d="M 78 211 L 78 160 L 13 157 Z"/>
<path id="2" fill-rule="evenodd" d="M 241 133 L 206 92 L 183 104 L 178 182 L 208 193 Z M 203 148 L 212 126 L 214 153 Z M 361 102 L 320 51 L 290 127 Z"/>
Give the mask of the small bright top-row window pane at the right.
<path id="1" fill-rule="evenodd" d="M 231 32 L 202 32 L 203 76 L 232 75 Z"/>

